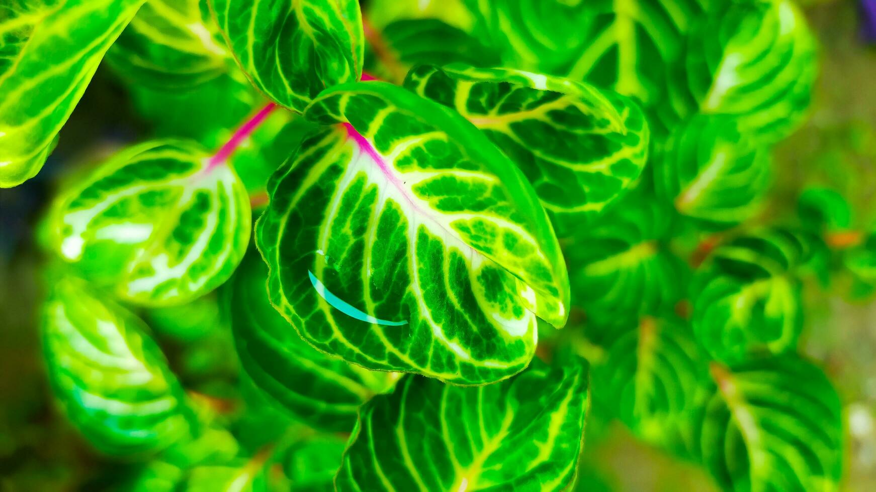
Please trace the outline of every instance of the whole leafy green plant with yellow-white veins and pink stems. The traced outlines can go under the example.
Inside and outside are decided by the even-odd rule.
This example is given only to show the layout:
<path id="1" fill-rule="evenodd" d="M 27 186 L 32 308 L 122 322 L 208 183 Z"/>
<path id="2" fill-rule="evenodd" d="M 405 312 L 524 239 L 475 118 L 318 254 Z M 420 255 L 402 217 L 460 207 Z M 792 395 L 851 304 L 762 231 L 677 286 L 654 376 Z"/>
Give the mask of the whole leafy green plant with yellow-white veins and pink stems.
<path id="1" fill-rule="evenodd" d="M 817 72 L 795 4 L 364 13 L 0 6 L 0 185 L 39 171 L 102 59 L 154 129 L 40 231 L 54 392 L 142 463 L 124 487 L 569 489 L 592 417 L 724 489 L 837 489 L 802 288 L 876 284 L 876 232 L 826 189 L 767 213 Z M 233 348 L 206 342 L 226 325 Z M 163 338 L 194 356 L 172 369 Z M 190 374 L 223 358 L 231 389 Z"/>

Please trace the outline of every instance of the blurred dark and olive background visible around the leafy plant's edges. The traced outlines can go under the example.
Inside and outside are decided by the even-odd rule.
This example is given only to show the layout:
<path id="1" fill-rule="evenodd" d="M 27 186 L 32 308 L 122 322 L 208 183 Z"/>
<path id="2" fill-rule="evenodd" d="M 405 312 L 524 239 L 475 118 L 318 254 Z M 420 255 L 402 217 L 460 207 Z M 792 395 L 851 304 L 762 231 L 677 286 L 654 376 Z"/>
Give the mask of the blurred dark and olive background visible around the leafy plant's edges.
<path id="1" fill-rule="evenodd" d="M 769 210 L 792 208 L 803 187 L 823 184 L 850 199 L 859 224 L 876 224 L 876 38 L 863 35 L 861 2 L 802 3 L 821 40 L 821 77 L 808 123 L 775 150 Z M 102 68 L 46 170 L 0 191 L 0 491 L 99 490 L 124 468 L 95 454 L 49 398 L 39 353 L 34 225 L 65 165 L 108 154 L 145 128 L 124 87 Z M 844 401 L 844 489 L 876 490 L 876 303 L 818 292 L 806 305 L 804 350 L 823 364 Z M 222 393 L 236 378 L 228 336 L 216 333 L 193 349 L 172 333 L 159 334 L 183 381 L 208 393 Z M 579 490 L 715 489 L 701 469 L 639 444 L 622 426 L 588 426 Z"/>

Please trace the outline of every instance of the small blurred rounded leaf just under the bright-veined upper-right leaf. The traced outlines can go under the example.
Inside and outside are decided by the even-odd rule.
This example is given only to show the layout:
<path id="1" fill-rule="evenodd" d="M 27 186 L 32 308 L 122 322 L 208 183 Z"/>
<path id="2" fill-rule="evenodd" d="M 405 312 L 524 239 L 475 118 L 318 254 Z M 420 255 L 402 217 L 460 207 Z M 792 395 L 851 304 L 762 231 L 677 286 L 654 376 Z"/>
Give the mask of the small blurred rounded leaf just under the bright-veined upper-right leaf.
<path id="1" fill-rule="evenodd" d="M 658 195 L 684 216 L 724 228 L 751 218 L 767 192 L 770 156 L 726 116 L 696 116 L 654 163 Z"/>

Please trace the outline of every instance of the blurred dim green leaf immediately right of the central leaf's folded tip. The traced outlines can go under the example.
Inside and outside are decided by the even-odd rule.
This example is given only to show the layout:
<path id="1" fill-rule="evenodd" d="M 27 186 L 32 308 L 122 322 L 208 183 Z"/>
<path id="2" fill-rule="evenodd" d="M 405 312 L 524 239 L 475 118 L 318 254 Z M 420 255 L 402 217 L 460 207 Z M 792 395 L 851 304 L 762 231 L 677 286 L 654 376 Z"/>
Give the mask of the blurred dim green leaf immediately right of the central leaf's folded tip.
<path id="1" fill-rule="evenodd" d="M 565 246 L 572 304 L 588 316 L 671 311 L 686 294 L 689 267 L 668 247 L 673 213 L 633 191 Z"/>

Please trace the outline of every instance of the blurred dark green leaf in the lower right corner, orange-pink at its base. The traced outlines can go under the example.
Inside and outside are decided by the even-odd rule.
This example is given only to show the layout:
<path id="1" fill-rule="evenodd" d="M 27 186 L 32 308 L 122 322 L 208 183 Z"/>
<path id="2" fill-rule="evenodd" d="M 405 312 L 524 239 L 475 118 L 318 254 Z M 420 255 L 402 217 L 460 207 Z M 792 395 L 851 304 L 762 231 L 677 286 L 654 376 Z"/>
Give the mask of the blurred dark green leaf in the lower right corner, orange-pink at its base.
<path id="1" fill-rule="evenodd" d="M 843 423 L 836 390 L 800 357 L 727 370 L 703 414 L 703 464 L 725 490 L 838 490 Z"/>

